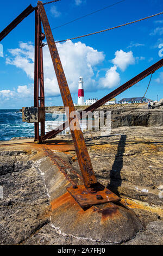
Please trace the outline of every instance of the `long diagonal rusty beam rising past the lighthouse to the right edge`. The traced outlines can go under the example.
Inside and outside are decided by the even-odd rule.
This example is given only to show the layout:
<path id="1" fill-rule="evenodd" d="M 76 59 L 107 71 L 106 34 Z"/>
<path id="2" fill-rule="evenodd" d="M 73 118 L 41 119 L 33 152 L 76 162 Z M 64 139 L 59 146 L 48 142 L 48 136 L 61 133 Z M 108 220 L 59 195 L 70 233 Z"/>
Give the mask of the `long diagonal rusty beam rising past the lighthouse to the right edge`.
<path id="1" fill-rule="evenodd" d="M 96 103 L 87 107 L 84 111 L 85 112 L 95 111 L 95 109 L 97 109 L 98 107 L 103 106 L 106 102 L 113 99 L 117 95 L 121 94 L 122 92 L 124 92 L 125 90 L 130 88 L 131 86 L 134 86 L 134 84 L 140 82 L 143 78 L 145 78 L 148 75 L 154 73 L 156 70 L 160 69 L 162 66 L 163 66 L 163 59 L 161 59 L 161 60 L 159 60 L 159 62 L 156 62 L 155 64 L 153 64 L 148 69 L 141 72 L 139 75 L 133 77 L 131 80 L 124 83 L 122 86 L 118 87 L 113 92 L 104 96 L 101 100 L 98 100 Z M 83 115 L 83 117 L 85 117 L 85 116 L 86 116 L 86 113 L 85 113 L 85 115 Z M 82 112 L 80 112 L 80 115 L 78 115 L 78 119 L 81 119 L 81 118 L 82 118 Z M 42 141 L 45 141 L 46 139 L 54 138 L 58 133 L 60 133 L 61 131 L 64 131 L 67 127 L 68 127 L 68 121 L 66 121 L 64 124 L 60 125 L 59 127 L 57 127 L 56 130 L 48 132 L 45 136 L 42 137 Z"/>

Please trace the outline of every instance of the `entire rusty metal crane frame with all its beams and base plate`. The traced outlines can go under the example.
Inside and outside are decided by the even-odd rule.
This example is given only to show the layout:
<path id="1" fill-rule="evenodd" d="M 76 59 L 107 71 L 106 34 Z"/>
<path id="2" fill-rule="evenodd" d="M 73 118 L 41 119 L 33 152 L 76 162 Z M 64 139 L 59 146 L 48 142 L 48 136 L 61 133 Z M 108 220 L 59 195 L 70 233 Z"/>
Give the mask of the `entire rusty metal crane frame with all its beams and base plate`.
<path id="1" fill-rule="evenodd" d="M 45 93 L 44 93 L 44 82 L 43 82 L 43 54 L 42 54 L 42 40 L 47 39 L 49 51 L 51 53 L 52 62 L 55 70 L 55 74 L 57 76 L 60 93 L 62 96 L 62 101 L 64 102 L 65 107 L 69 107 L 69 113 L 67 114 L 67 118 L 69 118 L 69 122 L 73 120 L 70 118 L 70 113 L 75 112 L 75 108 L 73 105 L 72 97 L 70 90 L 68 88 L 68 84 L 66 81 L 66 77 L 64 74 L 64 70 L 62 68 L 62 64 L 60 61 L 60 57 L 58 54 L 57 47 L 55 45 L 55 41 L 53 38 L 53 34 L 51 31 L 51 27 L 48 22 L 48 18 L 46 15 L 45 8 L 43 7 L 43 3 L 38 1 L 37 7 L 34 8 L 32 5 L 23 11 L 14 21 L 10 23 L 10 25 L 4 29 L 0 33 L 0 41 L 7 36 L 12 29 L 14 29 L 18 23 L 20 23 L 25 17 L 27 17 L 30 13 L 35 10 L 35 76 L 34 76 L 34 107 L 45 108 Z M 42 33 L 42 25 L 45 32 L 45 35 Z M 104 96 L 101 100 L 97 101 L 93 105 L 89 106 L 85 109 L 85 115 L 87 112 L 93 112 L 99 106 L 104 105 L 105 102 L 109 101 L 113 97 L 118 94 L 124 92 L 124 90 L 130 88 L 135 83 L 141 81 L 143 78 L 155 72 L 157 69 L 163 66 L 163 59 L 159 60 L 159 62 L 150 66 L 145 71 L 141 72 L 139 75 L 132 78 L 127 83 L 124 83 L 121 87 L 117 88 L 110 94 Z M 40 95 L 40 96 L 39 96 Z M 39 103 L 40 101 L 40 103 Z M 79 120 L 84 117 L 83 113 L 80 112 L 77 115 L 76 126 L 80 128 Z M 55 137 L 59 132 L 66 129 L 68 127 L 68 122 L 59 126 L 58 129 L 48 132 L 45 135 L 45 121 L 41 121 L 41 136 L 39 135 L 39 123 L 35 123 L 35 141 L 45 141 L 46 139 L 50 139 Z M 77 201 L 77 203 L 84 207 L 88 207 L 94 204 L 103 204 L 109 202 L 118 202 L 121 199 L 116 196 L 114 193 L 109 191 L 103 185 L 99 184 L 96 180 L 95 173 L 93 171 L 92 163 L 90 160 L 89 153 L 87 151 L 83 133 L 81 129 L 71 130 L 72 138 L 74 141 L 74 147 L 76 149 L 79 167 L 82 172 L 84 185 L 67 188 L 68 192 L 72 195 L 72 197 Z"/>

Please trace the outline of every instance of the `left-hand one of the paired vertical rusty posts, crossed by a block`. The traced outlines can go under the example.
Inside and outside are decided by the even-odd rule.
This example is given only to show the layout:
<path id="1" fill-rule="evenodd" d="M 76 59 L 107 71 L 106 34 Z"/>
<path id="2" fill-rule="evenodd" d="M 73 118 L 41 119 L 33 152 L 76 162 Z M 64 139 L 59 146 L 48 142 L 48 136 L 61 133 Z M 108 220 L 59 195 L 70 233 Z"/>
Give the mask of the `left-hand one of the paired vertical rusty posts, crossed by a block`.
<path id="1" fill-rule="evenodd" d="M 40 20 L 39 11 L 35 9 L 35 71 L 34 71 L 34 107 L 39 107 L 39 32 Z M 35 141 L 39 141 L 39 123 L 35 123 Z"/>

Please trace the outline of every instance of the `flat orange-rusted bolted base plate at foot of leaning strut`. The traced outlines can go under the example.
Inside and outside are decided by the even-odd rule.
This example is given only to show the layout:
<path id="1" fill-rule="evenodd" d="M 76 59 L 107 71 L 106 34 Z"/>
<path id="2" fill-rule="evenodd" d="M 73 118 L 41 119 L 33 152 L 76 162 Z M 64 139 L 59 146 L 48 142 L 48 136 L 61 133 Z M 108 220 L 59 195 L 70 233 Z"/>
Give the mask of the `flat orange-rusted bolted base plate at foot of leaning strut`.
<path id="1" fill-rule="evenodd" d="M 82 208 L 91 207 L 95 204 L 121 201 L 120 197 L 116 196 L 116 194 L 112 193 L 103 185 L 98 184 L 98 188 L 96 193 L 90 193 L 84 185 L 80 185 L 77 188 L 68 187 L 67 191 Z"/>

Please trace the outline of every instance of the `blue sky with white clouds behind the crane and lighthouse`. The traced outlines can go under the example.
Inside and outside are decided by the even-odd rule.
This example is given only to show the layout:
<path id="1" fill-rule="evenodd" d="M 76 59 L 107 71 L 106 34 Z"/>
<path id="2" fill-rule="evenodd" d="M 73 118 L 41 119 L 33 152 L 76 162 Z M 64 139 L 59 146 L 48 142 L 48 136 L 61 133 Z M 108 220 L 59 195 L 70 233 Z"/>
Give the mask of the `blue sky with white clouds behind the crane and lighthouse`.
<path id="1" fill-rule="evenodd" d="M 43 1 L 46 2 L 46 1 Z M 92 13 L 118 0 L 61 0 L 45 6 L 51 28 Z M 29 4 L 36 1 L 2 1 L 2 31 Z M 163 11 L 162 0 L 126 0 L 84 19 L 53 30 L 55 41 L 101 31 Z M 77 102 L 78 79 L 83 76 L 85 99 L 101 99 L 162 57 L 163 15 L 82 39 L 57 44 L 73 101 Z M 34 13 L 18 25 L 0 46 L 0 108 L 33 106 Z M 163 51 L 162 51 L 163 53 Z M 48 46 L 43 48 L 46 106 L 62 105 Z M 143 96 L 149 78 L 118 95 Z M 163 69 L 156 71 L 146 96 L 163 98 Z"/>

